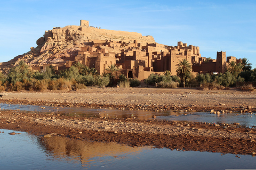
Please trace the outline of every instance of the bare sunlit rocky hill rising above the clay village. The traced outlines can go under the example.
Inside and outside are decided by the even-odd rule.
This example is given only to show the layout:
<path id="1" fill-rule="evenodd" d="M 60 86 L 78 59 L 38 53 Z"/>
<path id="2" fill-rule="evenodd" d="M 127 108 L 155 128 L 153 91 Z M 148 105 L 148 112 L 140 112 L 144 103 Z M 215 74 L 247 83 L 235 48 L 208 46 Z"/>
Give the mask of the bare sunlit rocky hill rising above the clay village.
<path id="1" fill-rule="evenodd" d="M 36 41 L 37 47 L 14 57 L 9 62 L 0 63 L 1 70 L 7 71 L 12 66 L 24 60 L 30 66 L 42 64 L 63 63 L 78 54 L 80 47 L 87 45 L 92 40 L 122 40 L 126 43 L 155 43 L 152 36 L 142 36 L 137 32 L 114 31 L 94 27 L 69 25 L 63 28 L 53 28 L 45 31 L 44 36 Z"/>

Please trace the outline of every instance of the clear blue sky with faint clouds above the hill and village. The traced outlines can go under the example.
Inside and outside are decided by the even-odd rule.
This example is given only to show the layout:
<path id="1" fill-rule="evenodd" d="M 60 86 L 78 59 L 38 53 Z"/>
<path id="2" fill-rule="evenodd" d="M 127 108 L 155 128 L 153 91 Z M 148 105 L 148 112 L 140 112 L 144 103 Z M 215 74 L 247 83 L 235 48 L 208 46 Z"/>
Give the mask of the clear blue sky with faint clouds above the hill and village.
<path id="1" fill-rule="evenodd" d="M 248 58 L 256 67 L 256 1 L 40 1 L 0 2 L 0 62 L 36 47 L 45 30 L 90 25 L 200 47 L 203 57 Z"/>

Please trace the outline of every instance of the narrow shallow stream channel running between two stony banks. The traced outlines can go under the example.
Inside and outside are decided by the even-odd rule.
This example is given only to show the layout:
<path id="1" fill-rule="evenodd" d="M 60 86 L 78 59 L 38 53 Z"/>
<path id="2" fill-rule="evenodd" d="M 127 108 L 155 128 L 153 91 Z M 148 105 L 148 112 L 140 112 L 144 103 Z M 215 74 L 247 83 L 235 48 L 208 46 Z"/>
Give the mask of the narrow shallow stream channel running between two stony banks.
<path id="1" fill-rule="evenodd" d="M 86 117 L 136 117 L 140 120 L 148 120 L 153 115 L 160 120 L 170 121 L 188 121 L 188 122 L 208 122 L 208 123 L 240 123 L 242 126 L 256 126 L 256 114 L 252 113 L 228 113 L 228 114 L 210 114 L 205 112 L 193 113 L 175 113 L 173 111 L 153 112 L 153 111 L 123 111 L 116 109 L 89 109 L 89 108 L 71 108 L 71 107 L 47 107 L 35 105 L 7 105 L 0 104 L 0 109 L 12 109 L 29 112 L 44 112 L 44 113 L 60 113 L 70 116 L 86 116 Z"/>

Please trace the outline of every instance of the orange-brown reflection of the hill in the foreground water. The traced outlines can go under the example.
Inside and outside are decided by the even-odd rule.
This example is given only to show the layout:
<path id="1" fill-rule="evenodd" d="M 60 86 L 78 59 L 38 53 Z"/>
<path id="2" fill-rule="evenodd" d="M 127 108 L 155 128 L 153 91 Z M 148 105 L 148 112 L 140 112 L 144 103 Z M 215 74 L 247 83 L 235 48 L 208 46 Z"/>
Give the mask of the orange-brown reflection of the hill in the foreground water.
<path id="1" fill-rule="evenodd" d="M 118 155 L 138 155 L 142 150 L 151 149 L 151 147 L 129 147 L 113 142 L 90 142 L 61 137 L 38 138 L 37 140 L 39 146 L 51 152 L 56 159 L 68 157 L 69 160 L 79 160 L 83 166 L 97 162 L 95 158 L 122 158 Z"/>

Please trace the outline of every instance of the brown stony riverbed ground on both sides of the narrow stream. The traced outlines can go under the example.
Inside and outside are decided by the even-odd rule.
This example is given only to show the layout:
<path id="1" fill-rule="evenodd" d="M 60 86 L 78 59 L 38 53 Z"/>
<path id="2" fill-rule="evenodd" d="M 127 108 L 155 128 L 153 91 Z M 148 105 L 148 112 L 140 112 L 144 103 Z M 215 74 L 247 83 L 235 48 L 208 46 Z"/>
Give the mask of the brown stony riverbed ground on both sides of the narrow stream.
<path id="1" fill-rule="evenodd" d="M 87 88 L 78 91 L 4 92 L 2 102 L 68 107 L 105 107 L 163 111 L 176 109 L 255 112 L 256 93 L 237 89 Z M 78 140 L 118 142 L 130 146 L 256 155 L 254 128 L 234 124 L 184 123 L 137 118 L 86 118 L 59 114 L 1 111 L 0 129 Z"/>

